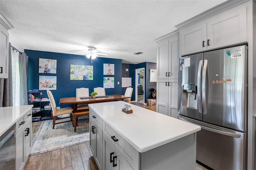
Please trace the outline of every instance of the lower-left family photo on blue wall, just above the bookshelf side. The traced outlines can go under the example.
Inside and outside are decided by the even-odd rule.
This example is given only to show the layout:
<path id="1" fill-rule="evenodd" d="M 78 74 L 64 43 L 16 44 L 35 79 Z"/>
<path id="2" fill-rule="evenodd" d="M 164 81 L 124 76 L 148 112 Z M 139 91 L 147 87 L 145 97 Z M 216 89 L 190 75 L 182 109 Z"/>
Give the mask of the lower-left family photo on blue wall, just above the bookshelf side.
<path id="1" fill-rule="evenodd" d="M 57 76 L 39 76 L 39 90 L 56 90 Z"/>

